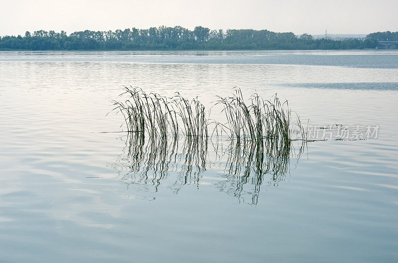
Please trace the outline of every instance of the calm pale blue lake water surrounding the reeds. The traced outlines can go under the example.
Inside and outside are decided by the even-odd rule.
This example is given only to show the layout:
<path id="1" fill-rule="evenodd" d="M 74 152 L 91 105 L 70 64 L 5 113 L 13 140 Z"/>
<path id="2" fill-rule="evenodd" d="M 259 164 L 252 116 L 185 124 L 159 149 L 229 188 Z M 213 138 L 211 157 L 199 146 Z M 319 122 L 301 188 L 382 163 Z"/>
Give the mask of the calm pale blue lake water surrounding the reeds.
<path id="1" fill-rule="evenodd" d="M 262 182 L 213 147 L 205 170 L 179 155 L 145 176 L 100 133 L 123 129 L 123 85 L 277 93 L 309 126 L 380 130 L 310 142 Z M 0 52 L 0 102 L 1 262 L 398 261 L 397 51 Z"/>

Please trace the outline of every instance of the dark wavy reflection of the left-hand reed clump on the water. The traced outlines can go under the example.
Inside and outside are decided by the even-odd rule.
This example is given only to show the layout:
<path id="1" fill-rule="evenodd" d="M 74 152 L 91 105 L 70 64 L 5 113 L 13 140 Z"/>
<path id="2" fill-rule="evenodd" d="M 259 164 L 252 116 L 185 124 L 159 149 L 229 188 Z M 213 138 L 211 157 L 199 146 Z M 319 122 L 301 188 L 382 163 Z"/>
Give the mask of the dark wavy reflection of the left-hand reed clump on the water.
<path id="1" fill-rule="evenodd" d="M 200 173 L 206 170 L 207 141 L 191 137 L 157 137 L 145 140 L 138 133 L 127 135 L 125 153 L 115 164 L 119 179 L 129 188 L 143 192 L 157 192 L 158 187 L 176 176 L 172 186 L 175 193 L 187 184 L 198 184 Z M 173 179 L 174 180 L 174 179 Z"/>

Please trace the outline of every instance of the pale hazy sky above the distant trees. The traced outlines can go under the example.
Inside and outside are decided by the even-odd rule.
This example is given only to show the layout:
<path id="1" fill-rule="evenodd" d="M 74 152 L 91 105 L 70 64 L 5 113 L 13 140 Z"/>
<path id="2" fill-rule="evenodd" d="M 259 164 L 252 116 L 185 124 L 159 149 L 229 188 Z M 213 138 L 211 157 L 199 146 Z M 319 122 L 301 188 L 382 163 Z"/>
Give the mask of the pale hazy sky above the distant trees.
<path id="1" fill-rule="evenodd" d="M 0 35 L 197 25 L 296 34 L 398 31 L 397 0 L 0 0 Z"/>

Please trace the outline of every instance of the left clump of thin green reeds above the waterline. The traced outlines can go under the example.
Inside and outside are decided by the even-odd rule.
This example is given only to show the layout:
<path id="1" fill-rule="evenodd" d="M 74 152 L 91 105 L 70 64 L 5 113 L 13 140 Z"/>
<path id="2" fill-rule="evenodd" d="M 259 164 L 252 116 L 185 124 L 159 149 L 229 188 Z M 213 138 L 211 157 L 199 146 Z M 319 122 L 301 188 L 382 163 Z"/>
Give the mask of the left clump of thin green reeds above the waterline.
<path id="1" fill-rule="evenodd" d="M 180 134 L 195 138 L 193 142 L 207 139 L 205 108 L 197 99 L 189 101 L 178 93 L 167 98 L 132 87 L 120 95 L 128 97 L 114 101 L 114 109 L 123 114 L 127 132 L 162 141 L 177 140 Z"/>

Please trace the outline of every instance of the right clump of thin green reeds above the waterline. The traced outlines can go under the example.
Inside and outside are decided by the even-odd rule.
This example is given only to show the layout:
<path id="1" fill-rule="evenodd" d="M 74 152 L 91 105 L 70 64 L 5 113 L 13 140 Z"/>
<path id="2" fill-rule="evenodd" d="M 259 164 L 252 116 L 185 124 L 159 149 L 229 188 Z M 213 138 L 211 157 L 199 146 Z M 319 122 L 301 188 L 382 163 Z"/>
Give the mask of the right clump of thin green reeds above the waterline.
<path id="1" fill-rule="evenodd" d="M 254 93 L 245 101 L 242 91 L 237 89 L 230 97 L 218 97 L 217 104 L 223 106 L 227 122 L 218 123 L 216 129 L 226 132 L 234 143 L 254 144 L 256 148 L 261 148 L 264 142 L 271 146 L 288 145 L 293 133 L 304 136 L 298 116 L 293 129 L 288 102 L 282 103 L 276 95 L 273 100 L 265 100 Z"/>

